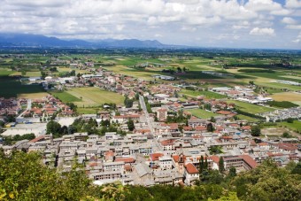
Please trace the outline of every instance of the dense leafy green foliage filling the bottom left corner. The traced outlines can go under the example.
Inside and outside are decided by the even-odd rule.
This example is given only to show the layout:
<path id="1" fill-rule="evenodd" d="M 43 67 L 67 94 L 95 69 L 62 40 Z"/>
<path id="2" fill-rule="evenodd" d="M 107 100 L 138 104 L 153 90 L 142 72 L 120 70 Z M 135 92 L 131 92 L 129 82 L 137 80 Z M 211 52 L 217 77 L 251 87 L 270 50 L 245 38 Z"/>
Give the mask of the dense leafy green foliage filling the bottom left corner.
<path id="1" fill-rule="evenodd" d="M 0 152 L 1 200 L 80 200 L 94 196 L 96 188 L 83 171 L 73 166 L 63 176 L 43 166 L 41 157 L 22 151 L 5 157 Z"/>

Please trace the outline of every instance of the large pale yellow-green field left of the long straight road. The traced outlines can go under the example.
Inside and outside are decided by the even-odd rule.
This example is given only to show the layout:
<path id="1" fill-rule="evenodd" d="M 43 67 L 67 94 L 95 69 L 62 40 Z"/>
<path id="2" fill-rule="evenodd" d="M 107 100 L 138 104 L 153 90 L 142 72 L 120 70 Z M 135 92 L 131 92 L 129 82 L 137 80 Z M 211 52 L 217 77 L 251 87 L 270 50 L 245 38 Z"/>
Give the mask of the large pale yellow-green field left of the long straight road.
<path id="1" fill-rule="evenodd" d="M 67 90 L 66 93 L 80 99 L 73 102 L 78 107 L 92 107 L 104 103 L 123 104 L 124 101 L 124 97 L 120 94 L 96 87 L 74 88 Z"/>

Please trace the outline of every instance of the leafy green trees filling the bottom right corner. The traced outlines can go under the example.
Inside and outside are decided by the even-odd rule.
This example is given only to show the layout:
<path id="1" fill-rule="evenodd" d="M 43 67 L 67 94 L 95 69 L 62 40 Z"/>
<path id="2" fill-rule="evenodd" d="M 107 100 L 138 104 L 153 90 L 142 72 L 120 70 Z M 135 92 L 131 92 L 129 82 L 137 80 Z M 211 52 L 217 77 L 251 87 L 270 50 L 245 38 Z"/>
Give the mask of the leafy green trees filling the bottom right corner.
<path id="1" fill-rule="evenodd" d="M 301 177 L 276 166 L 272 159 L 230 182 L 243 200 L 300 200 Z"/>

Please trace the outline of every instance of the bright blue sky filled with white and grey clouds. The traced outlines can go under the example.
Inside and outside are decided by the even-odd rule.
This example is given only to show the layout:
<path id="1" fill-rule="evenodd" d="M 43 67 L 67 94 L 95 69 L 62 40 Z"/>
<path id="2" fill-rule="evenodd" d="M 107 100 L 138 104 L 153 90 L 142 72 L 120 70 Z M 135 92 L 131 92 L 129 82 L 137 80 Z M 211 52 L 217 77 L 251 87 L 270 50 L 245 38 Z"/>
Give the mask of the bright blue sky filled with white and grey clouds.
<path id="1" fill-rule="evenodd" d="M 0 32 L 301 49 L 301 0 L 0 0 Z"/>

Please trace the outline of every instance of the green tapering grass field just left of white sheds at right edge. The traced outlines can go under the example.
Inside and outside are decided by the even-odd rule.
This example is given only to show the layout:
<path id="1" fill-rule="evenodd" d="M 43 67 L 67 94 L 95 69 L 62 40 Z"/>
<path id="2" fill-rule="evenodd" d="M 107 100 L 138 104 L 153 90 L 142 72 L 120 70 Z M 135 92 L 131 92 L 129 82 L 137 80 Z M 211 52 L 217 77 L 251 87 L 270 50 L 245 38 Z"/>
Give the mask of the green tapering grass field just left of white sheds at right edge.
<path id="1" fill-rule="evenodd" d="M 236 105 L 236 108 L 240 109 L 243 112 L 249 112 L 253 114 L 274 111 L 273 108 L 259 106 L 257 104 L 249 104 L 242 101 L 228 100 L 227 102 L 234 103 Z"/>

